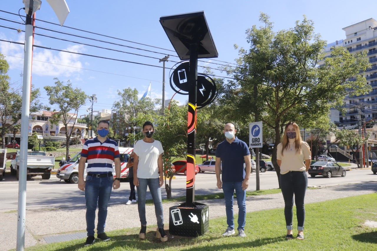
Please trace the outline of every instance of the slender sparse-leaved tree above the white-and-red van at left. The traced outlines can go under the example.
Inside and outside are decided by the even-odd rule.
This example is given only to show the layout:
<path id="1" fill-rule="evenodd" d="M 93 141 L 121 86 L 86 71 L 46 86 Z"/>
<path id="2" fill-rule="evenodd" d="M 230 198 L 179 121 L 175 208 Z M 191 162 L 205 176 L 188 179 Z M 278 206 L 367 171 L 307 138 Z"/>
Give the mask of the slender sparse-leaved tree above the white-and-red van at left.
<path id="1" fill-rule="evenodd" d="M 56 105 L 58 110 L 54 110 L 50 122 L 51 124 L 57 125 L 62 122 L 65 127 L 66 134 L 66 158 L 69 155 L 69 141 L 74 130 L 77 113 L 81 106 L 83 106 L 88 98 L 81 89 L 73 88 L 70 81 L 67 84 L 63 84 L 58 78 L 56 80 L 55 86 L 44 86 L 44 89 L 49 96 L 49 103 L 51 105 Z M 70 113 L 73 111 L 74 113 Z M 70 130 L 68 128 L 70 126 Z"/>

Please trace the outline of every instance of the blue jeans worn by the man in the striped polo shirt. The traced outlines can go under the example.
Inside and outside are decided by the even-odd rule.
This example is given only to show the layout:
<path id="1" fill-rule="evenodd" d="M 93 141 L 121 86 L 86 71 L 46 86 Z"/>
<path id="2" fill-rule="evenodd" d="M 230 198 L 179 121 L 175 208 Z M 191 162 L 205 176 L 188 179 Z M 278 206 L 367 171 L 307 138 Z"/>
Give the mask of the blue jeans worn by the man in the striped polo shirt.
<path id="1" fill-rule="evenodd" d="M 109 177 L 92 177 L 86 176 L 85 182 L 85 200 L 86 200 L 86 231 L 87 236 L 94 236 L 95 210 L 97 209 L 98 200 L 98 223 L 97 234 L 104 233 L 107 204 L 109 203 L 111 190 L 113 188 L 113 176 Z"/>

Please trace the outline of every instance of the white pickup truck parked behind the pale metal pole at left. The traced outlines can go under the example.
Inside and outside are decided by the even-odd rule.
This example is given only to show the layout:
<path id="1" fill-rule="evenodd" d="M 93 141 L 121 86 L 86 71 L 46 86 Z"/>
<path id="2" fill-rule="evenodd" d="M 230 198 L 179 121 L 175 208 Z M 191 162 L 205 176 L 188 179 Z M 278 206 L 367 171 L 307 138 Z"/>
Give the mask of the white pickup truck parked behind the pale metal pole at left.
<path id="1" fill-rule="evenodd" d="M 50 179 L 52 167 L 55 165 L 54 156 L 46 156 L 45 152 L 28 152 L 27 178 L 41 175 L 42 179 Z M 16 175 L 18 180 L 20 168 L 20 155 L 11 161 L 11 174 Z"/>

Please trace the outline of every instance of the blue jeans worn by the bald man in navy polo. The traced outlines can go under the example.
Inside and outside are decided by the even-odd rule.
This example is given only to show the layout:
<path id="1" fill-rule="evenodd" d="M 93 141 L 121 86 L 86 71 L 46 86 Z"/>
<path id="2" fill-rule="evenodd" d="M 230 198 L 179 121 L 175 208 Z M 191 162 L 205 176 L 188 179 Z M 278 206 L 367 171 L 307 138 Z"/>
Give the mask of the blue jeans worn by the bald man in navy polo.
<path id="1" fill-rule="evenodd" d="M 228 227 L 234 229 L 233 216 L 233 194 L 236 191 L 238 204 L 238 228 L 245 230 L 246 222 L 246 190 L 242 190 L 242 181 L 239 182 L 222 182 L 222 191 L 224 191 L 225 211 L 227 213 Z"/>

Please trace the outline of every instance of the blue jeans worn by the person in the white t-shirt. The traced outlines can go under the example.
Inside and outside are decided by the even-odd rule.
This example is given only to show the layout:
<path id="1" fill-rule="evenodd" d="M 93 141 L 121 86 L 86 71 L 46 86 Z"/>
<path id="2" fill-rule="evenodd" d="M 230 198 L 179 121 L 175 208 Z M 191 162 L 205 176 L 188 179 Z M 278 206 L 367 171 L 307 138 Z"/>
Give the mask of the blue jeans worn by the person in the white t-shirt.
<path id="1" fill-rule="evenodd" d="M 147 219 L 145 217 L 145 200 L 147 196 L 147 187 L 149 187 L 149 191 L 153 199 L 153 204 L 155 204 L 157 227 L 164 228 L 164 212 L 162 210 L 161 187 L 159 186 L 159 178 L 139 178 L 139 186 L 136 187 L 136 190 L 138 191 L 138 210 L 140 223 L 142 226 L 147 225 Z"/>

